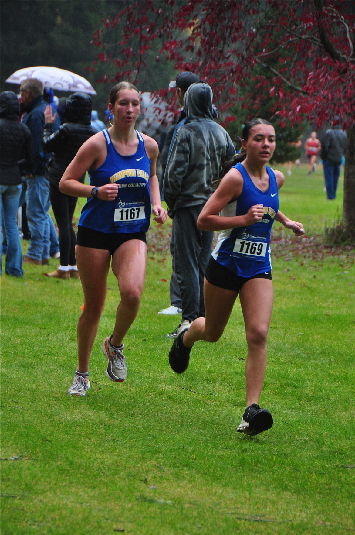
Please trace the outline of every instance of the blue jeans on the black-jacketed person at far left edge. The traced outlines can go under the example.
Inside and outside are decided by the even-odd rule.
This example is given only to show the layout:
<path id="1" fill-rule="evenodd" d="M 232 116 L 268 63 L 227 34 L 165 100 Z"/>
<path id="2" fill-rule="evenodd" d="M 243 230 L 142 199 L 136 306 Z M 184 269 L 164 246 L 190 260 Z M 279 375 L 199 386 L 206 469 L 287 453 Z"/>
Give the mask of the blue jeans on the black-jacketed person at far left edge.
<path id="1" fill-rule="evenodd" d="M 24 276 L 20 235 L 16 221 L 21 188 L 21 184 L 18 186 L 0 186 L 0 219 L 4 221 L 7 241 L 5 272 L 14 277 Z M 1 263 L 0 273 L 2 273 Z"/>

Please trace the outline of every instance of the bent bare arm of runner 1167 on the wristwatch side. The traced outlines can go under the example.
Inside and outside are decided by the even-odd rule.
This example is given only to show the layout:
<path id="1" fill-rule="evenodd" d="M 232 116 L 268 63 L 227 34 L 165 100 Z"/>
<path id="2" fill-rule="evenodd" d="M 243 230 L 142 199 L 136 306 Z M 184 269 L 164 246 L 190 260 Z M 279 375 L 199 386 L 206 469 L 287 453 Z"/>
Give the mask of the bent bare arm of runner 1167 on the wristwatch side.
<path id="1" fill-rule="evenodd" d="M 59 182 L 61 193 L 73 197 L 90 197 L 92 186 L 81 184 L 79 179 L 86 171 L 97 169 L 105 161 L 106 150 L 106 142 L 102 132 L 90 137 L 80 147 L 61 177 Z M 98 188 L 97 197 L 104 201 L 113 201 L 117 197 L 117 193 L 117 184 L 105 184 Z"/>

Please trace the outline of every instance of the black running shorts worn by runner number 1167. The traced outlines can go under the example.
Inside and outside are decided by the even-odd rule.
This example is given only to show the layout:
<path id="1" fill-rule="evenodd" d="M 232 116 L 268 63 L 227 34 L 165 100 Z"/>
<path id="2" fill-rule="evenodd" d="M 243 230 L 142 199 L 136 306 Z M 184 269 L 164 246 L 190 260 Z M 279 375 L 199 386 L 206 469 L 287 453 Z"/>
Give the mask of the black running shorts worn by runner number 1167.
<path id="1" fill-rule="evenodd" d="M 106 249 L 113 256 L 114 251 L 122 243 L 129 240 L 141 240 L 146 243 L 145 232 L 130 232 L 127 234 L 106 234 L 106 232 L 94 231 L 91 228 L 79 226 L 76 234 L 76 245 L 89 247 L 91 249 Z"/>

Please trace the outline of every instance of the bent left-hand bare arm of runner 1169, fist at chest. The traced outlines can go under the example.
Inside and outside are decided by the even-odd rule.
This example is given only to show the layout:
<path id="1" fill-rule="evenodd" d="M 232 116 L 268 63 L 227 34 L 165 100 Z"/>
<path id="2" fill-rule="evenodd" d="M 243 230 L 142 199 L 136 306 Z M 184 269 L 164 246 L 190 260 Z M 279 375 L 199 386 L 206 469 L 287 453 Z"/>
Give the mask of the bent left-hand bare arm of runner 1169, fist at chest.
<path id="1" fill-rule="evenodd" d="M 244 216 L 220 216 L 219 212 L 229 201 L 240 196 L 243 190 L 243 177 L 239 171 L 230 169 L 222 178 L 218 188 L 204 205 L 197 219 L 197 228 L 204 231 L 219 231 L 226 228 L 252 225 L 263 219 L 263 205 L 256 204 Z"/>

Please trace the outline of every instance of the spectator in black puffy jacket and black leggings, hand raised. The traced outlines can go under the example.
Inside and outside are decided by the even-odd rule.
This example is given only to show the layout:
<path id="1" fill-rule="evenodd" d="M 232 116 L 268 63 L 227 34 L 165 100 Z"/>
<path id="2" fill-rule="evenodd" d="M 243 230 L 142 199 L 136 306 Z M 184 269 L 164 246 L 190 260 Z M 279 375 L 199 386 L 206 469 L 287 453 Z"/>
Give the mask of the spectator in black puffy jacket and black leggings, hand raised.
<path id="1" fill-rule="evenodd" d="M 71 163 L 82 144 L 97 133 L 91 125 L 91 97 L 84 93 L 73 93 L 65 105 L 65 124 L 53 133 L 53 116 L 51 106 L 44 110 L 45 125 L 42 134 L 44 152 L 52 152 L 45 178 L 49 181 L 50 202 L 59 230 L 60 265 L 48 277 L 59 279 L 79 279 L 75 261 L 76 235 L 73 229 L 73 215 L 78 201 L 77 197 L 59 191 L 59 181 L 67 166 Z M 85 174 L 79 182 L 84 183 Z"/>

